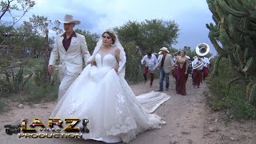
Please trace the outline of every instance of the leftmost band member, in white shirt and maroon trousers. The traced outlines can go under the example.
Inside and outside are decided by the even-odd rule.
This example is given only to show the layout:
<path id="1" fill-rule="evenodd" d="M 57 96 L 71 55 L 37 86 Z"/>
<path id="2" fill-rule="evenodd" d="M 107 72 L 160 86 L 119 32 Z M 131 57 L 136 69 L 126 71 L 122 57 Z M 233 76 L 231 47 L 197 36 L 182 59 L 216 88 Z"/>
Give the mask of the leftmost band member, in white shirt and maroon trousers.
<path id="1" fill-rule="evenodd" d="M 149 52 L 142 58 L 141 62 L 142 62 L 142 65 L 145 64 L 144 71 L 143 71 L 143 77 L 144 77 L 145 83 L 147 81 L 146 74 L 150 72 L 150 87 L 152 87 L 153 81 L 154 81 L 154 70 L 156 68 L 156 64 L 158 63 L 158 58 L 154 54 L 151 54 Z"/>

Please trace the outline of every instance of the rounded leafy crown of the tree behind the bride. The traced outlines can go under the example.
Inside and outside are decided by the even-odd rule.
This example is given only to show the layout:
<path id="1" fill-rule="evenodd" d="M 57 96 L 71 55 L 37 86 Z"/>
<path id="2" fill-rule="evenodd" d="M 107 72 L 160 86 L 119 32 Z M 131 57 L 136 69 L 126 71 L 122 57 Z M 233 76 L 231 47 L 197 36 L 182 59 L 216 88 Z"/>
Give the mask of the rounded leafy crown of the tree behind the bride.
<path id="1" fill-rule="evenodd" d="M 178 38 L 178 25 L 174 21 L 159 19 L 144 22 L 126 22 L 116 27 L 121 42 L 133 42 L 142 52 L 158 51 L 162 46 L 171 47 Z"/>

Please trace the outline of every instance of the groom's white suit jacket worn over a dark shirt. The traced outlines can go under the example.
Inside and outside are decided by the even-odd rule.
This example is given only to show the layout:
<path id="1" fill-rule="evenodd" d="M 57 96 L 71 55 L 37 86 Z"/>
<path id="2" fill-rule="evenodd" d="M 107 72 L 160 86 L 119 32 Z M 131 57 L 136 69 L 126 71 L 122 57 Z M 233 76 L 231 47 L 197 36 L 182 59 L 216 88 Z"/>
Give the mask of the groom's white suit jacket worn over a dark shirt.
<path id="1" fill-rule="evenodd" d="M 54 49 L 50 53 L 49 66 L 54 65 L 59 58 L 59 74 L 64 74 L 65 70 L 70 73 L 80 74 L 82 72 L 82 58 L 85 63 L 90 58 L 90 53 L 87 49 L 86 38 L 78 33 L 75 33 L 77 37 L 72 37 L 70 47 L 65 50 L 62 41 L 62 34 L 58 34 Z"/>

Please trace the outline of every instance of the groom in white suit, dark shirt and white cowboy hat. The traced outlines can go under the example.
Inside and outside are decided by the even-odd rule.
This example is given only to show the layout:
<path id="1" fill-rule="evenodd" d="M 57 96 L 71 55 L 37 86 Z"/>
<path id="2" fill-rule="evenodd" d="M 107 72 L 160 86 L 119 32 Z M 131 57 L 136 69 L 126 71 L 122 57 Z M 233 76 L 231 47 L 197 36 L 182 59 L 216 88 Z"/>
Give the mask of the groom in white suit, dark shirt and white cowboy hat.
<path id="1" fill-rule="evenodd" d="M 58 90 L 58 101 L 65 94 L 66 90 L 82 72 L 82 58 L 86 63 L 90 58 L 87 49 L 86 38 L 74 32 L 74 26 L 81 22 L 74 19 L 70 14 L 66 14 L 64 21 L 65 33 L 58 34 L 54 49 L 51 51 L 48 72 L 54 73 L 54 64 L 59 58 L 59 77 L 61 84 Z"/>

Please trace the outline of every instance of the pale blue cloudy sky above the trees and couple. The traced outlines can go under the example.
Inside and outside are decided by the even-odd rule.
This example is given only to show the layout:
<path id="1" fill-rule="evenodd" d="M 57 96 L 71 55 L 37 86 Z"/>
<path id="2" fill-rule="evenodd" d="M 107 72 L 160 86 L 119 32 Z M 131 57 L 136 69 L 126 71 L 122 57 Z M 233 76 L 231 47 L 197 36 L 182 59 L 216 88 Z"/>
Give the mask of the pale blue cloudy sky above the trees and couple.
<path id="1" fill-rule="evenodd" d="M 22 21 L 28 21 L 32 14 L 43 15 L 52 21 L 63 20 L 65 14 L 72 14 L 81 21 L 75 28 L 102 34 L 107 28 L 122 26 L 128 21 L 142 22 L 145 19 L 162 19 L 178 23 L 176 49 L 199 43 L 210 46 L 210 52 L 217 54 L 212 46 L 206 23 L 214 22 L 206 0 L 34 0 L 36 5 Z M 160 49 L 160 48 L 159 48 Z"/>

